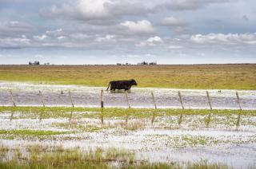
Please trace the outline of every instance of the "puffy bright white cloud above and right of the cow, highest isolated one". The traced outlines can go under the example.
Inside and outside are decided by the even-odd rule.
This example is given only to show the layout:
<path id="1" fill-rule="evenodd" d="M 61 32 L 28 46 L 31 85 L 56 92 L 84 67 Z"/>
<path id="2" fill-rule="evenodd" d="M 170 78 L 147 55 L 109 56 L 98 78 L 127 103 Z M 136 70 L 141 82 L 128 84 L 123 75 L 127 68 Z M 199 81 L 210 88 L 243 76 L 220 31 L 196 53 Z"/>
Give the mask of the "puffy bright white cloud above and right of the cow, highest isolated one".
<path id="1" fill-rule="evenodd" d="M 152 24 L 147 20 L 142 20 L 138 22 L 126 21 L 120 24 L 129 29 L 130 33 L 154 33 L 155 29 Z"/>

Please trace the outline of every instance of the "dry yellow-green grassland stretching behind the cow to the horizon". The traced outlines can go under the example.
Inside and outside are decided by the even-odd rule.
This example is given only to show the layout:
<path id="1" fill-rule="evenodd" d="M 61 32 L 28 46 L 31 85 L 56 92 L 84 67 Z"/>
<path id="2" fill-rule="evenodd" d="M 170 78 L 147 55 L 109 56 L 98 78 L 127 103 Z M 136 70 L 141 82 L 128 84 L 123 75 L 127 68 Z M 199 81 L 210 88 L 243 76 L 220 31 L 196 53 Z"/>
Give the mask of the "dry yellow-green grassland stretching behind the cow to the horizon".
<path id="1" fill-rule="evenodd" d="M 1 65 L 0 81 L 107 86 L 135 79 L 138 87 L 256 89 L 256 65 Z"/>

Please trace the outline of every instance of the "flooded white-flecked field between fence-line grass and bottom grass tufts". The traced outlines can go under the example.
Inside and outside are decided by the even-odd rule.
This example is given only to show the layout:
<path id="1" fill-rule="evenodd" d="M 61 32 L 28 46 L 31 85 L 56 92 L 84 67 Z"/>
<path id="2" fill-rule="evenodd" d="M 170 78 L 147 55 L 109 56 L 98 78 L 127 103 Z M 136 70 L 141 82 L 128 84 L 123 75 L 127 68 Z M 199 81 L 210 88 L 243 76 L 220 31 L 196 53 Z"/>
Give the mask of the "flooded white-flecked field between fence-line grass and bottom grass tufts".
<path id="1" fill-rule="evenodd" d="M 11 115 L 13 113 L 13 115 Z M 248 113 L 162 116 L 104 116 L 99 112 L 62 112 L 42 119 L 33 111 L 0 113 L 0 146 L 78 148 L 81 151 L 126 150 L 134 161 L 146 163 L 222 163 L 228 167 L 256 167 L 256 116 Z M 145 112 L 146 113 L 146 112 Z M 125 114 L 125 112 L 124 112 Z M 12 116 L 12 120 L 10 120 Z M 47 149 L 47 148 L 46 148 Z M 46 150 L 44 149 L 44 150 Z M 2 158 L 12 158 L 7 153 Z M 111 164 L 115 165 L 115 164 Z"/>

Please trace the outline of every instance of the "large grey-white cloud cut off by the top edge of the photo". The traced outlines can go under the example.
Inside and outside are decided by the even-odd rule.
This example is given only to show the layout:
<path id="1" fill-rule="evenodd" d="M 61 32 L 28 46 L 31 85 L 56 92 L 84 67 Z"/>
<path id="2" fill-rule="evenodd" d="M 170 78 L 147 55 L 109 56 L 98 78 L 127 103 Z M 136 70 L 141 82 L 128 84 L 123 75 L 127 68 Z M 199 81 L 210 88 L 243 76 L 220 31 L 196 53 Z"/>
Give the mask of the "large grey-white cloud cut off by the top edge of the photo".
<path id="1" fill-rule="evenodd" d="M 53 5 L 50 9 L 41 10 L 46 17 L 75 18 L 79 20 L 101 20 L 122 18 L 123 16 L 145 15 L 153 12 L 143 2 L 130 0 L 76 0 L 72 3 Z M 95 22 L 90 22 L 94 24 Z M 99 23 L 99 22 L 96 22 Z"/>

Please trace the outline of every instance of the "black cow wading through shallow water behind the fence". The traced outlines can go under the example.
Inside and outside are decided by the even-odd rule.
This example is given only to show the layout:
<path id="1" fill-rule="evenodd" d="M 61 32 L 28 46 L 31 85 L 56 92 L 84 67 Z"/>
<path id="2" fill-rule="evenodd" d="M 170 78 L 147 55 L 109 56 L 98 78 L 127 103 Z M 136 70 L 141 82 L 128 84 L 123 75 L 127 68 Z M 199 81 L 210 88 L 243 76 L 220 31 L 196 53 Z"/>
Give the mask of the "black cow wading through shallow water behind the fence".
<path id="1" fill-rule="evenodd" d="M 109 86 L 106 88 L 106 90 L 110 88 L 110 90 L 114 91 L 115 89 L 125 89 L 126 91 L 129 90 L 132 85 L 137 85 L 137 82 L 134 79 L 130 81 L 110 81 Z"/>

